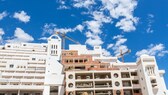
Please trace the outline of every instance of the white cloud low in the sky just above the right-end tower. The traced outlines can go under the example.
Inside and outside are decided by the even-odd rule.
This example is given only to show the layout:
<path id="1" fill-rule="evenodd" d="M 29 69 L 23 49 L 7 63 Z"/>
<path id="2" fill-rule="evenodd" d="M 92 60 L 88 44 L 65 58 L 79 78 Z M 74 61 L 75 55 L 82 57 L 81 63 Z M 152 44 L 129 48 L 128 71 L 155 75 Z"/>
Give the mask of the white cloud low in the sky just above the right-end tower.
<path id="1" fill-rule="evenodd" d="M 142 49 L 136 52 L 136 56 L 141 56 L 142 54 L 148 54 L 152 56 L 164 56 L 168 53 L 168 50 L 165 50 L 163 44 L 150 44 L 147 49 Z"/>

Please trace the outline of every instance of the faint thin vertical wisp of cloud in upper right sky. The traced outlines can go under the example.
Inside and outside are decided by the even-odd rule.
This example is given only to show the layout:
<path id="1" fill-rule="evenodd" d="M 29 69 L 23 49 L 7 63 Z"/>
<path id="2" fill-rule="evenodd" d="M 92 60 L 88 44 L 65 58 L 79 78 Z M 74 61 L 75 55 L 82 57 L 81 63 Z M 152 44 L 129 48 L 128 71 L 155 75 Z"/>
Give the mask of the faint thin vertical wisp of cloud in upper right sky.
<path id="1" fill-rule="evenodd" d="M 147 33 L 153 33 L 154 30 L 152 29 L 152 24 L 154 22 L 154 15 L 153 14 L 148 14 L 148 25 L 147 25 L 147 29 L 146 29 L 146 32 Z"/>

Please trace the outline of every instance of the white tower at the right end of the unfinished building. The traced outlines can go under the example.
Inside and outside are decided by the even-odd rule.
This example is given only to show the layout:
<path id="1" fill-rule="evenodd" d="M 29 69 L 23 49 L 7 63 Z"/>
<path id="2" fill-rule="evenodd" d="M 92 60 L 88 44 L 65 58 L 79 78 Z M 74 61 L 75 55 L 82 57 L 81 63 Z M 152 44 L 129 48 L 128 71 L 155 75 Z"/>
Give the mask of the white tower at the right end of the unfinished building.
<path id="1" fill-rule="evenodd" d="M 159 70 L 154 56 L 142 55 L 137 62 L 143 95 L 168 95 L 163 79 L 164 70 Z"/>

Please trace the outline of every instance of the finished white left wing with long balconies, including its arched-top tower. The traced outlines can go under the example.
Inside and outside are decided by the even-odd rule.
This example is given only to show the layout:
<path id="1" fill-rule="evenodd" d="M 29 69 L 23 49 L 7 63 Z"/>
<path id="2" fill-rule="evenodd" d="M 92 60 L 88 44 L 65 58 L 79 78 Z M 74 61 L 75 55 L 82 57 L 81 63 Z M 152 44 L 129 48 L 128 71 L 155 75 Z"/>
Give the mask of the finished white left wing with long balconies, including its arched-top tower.
<path id="1" fill-rule="evenodd" d="M 0 46 L 0 95 L 63 95 L 61 39 Z"/>

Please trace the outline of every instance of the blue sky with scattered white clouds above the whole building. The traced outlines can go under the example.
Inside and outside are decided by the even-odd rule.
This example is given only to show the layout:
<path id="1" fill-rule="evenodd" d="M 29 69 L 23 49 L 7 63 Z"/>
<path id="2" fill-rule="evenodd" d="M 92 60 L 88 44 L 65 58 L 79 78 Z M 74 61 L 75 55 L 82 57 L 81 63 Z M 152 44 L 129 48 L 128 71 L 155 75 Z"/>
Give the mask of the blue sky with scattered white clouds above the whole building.
<path id="1" fill-rule="evenodd" d="M 106 56 L 120 49 L 156 56 L 168 87 L 167 0 L 0 0 L 0 44 L 46 42 L 54 31 L 86 44 L 102 45 Z M 72 42 L 66 41 L 66 48 Z"/>

